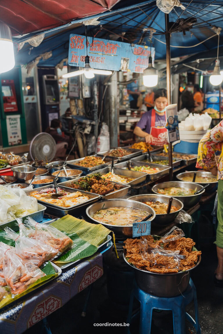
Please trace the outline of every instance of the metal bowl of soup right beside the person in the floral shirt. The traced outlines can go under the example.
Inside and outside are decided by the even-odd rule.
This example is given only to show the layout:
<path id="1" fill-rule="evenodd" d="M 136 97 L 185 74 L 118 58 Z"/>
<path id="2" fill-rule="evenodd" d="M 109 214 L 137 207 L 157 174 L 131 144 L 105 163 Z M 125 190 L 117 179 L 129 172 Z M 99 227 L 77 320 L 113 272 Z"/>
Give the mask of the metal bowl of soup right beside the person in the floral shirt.
<path id="1" fill-rule="evenodd" d="M 184 172 L 177 175 L 177 179 L 185 182 L 193 182 L 194 173 L 196 173 L 195 183 L 201 184 L 203 187 L 209 183 L 209 186 L 205 189 L 206 192 L 212 193 L 218 188 L 217 176 L 210 172 L 193 171 Z"/>

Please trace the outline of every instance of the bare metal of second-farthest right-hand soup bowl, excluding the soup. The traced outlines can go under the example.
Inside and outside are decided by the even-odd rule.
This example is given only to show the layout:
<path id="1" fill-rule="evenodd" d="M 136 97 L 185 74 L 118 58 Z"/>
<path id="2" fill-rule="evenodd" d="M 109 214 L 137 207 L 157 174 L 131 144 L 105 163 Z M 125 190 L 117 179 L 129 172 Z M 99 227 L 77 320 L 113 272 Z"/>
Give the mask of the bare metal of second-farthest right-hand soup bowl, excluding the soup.
<path id="1" fill-rule="evenodd" d="M 186 189 L 193 189 L 196 191 L 202 189 L 203 187 L 198 184 L 198 183 L 193 183 L 193 182 L 184 182 L 184 181 L 169 181 L 169 182 L 162 182 L 162 183 L 158 183 L 155 184 L 152 187 L 152 192 L 154 192 L 155 194 L 160 195 L 157 192 L 157 189 L 161 189 L 161 188 L 170 188 L 170 187 L 180 187 L 180 188 L 186 188 Z M 198 195 L 190 195 L 190 196 L 172 196 L 174 198 L 179 199 L 180 201 L 183 202 L 184 204 L 184 208 L 185 209 L 189 209 L 193 206 L 195 206 L 201 199 L 202 194 L 205 192 L 205 189 L 200 192 L 200 194 Z"/>

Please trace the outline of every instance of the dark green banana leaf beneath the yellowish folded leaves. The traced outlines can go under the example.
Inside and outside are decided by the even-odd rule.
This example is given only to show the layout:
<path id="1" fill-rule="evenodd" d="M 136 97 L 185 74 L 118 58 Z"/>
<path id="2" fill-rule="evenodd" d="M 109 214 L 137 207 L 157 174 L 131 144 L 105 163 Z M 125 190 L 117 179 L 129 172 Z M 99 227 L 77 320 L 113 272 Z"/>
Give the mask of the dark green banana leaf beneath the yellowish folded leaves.
<path id="1" fill-rule="evenodd" d="M 81 260 L 87 258 L 93 254 L 95 254 L 98 248 L 89 242 L 79 238 L 76 233 L 67 234 L 74 242 L 73 248 L 70 249 L 66 254 L 62 255 L 57 260 L 53 262 L 57 265 L 65 264 L 68 262 L 74 262 L 77 260 Z"/>

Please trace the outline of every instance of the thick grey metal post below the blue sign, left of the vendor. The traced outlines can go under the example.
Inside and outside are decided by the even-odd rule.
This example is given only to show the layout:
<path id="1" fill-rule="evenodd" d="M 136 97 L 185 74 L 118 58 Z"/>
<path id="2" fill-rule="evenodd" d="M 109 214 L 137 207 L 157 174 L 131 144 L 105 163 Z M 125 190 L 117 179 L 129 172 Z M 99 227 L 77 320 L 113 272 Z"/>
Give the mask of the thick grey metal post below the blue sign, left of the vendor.
<path id="1" fill-rule="evenodd" d="M 109 87 L 109 133 L 110 147 L 119 146 L 119 96 L 118 96 L 118 72 L 110 78 Z"/>

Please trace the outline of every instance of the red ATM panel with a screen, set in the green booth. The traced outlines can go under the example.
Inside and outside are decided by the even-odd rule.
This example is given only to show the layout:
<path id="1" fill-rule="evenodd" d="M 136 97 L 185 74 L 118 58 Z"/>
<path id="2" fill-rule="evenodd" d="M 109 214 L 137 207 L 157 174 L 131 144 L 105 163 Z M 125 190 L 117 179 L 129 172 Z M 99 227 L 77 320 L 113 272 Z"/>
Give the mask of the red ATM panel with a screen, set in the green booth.
<path id="1" fill-rule="evenodd" d="M 2 96 L 5 113 L 18 111 L 14 80 L 2 80 Z"/>

